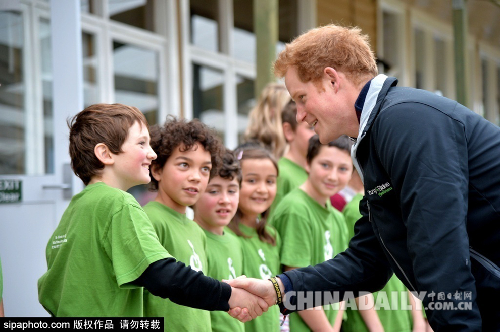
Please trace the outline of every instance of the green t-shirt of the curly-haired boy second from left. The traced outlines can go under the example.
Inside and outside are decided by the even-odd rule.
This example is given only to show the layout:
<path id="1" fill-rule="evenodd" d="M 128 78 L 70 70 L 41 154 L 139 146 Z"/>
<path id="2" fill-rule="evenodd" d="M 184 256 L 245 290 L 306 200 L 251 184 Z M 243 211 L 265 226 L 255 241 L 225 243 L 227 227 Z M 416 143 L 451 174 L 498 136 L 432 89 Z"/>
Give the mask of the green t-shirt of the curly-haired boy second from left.
<path id="1" fill-rule="evenodd" d="M 160 243 L 178 261 L 195 271 L 207 271 L 207 238 L 185 214 L 159 202 L 149 202 L 144 211 Z M 178 305 L 144 289 L 144 317 L 165 317 L 165 331 L 210 331 L 210 312 Z"/>

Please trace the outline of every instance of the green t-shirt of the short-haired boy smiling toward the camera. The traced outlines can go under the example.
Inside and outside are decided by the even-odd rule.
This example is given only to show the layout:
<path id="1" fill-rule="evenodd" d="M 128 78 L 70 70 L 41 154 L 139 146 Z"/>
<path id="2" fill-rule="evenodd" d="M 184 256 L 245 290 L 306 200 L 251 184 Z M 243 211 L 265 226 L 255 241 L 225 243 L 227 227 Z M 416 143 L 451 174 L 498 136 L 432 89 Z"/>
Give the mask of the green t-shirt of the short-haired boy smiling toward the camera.
<path id="1" fill-rule="evenodd" d="M 321 206 L 300 188 L 290 191 L 276 207 L 270 220 L 281 236 L 281 264 L 303 268 L 333 258 L 347 248 L 347 227 L 343 215 L 330 201 Z M 339 304 L 325 306 L 334 324 Z M 290 315 L 290 330 L 309 331 L 297 314 Z"/>

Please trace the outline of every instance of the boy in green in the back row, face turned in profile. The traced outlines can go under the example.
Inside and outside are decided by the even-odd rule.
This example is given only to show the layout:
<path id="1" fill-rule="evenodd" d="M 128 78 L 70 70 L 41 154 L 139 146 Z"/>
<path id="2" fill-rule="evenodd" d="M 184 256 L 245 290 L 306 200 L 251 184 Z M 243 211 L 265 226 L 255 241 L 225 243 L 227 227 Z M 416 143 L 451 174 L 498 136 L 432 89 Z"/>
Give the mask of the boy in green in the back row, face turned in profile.
<path id="1" fill-rule="evenodd" d="M 289 149 L 278 161 L 279 176 L 276 198 L 271 211 L 274 210 L 283 197 L 307 179 L 306 154 L 309 139 L 314 135 L 314 128 L 306 122 L 297 123 L 297 105 L 290 101 L 281 112 L 283 134 Z"/>

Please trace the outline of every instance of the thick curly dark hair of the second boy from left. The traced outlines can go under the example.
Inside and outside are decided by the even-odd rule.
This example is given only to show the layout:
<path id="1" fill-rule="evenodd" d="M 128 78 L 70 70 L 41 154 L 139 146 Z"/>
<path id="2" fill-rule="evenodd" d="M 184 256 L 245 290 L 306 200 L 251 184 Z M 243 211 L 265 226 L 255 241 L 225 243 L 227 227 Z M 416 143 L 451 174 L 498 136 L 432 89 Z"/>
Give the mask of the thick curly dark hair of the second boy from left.
<path id="1" fill-rule="evenodd" d="M 163 126 L 151 127 L 151 147 L 158 155 L 157 159 L 151 162 L 151 167 L 161 169 L 175 149 L 179 148 L 184 152 L 193 147 L 197 149 L 198 144 L 210 153 L 212 159 L 210 179 L 212 179 L 219 171 L 221 152 L 224 149 L 217 132 L 198 119 L 187 121 L 169 115 Z M 153 175 L 150 176 L 152 190 L 158 190 L 158 181 Z"/>

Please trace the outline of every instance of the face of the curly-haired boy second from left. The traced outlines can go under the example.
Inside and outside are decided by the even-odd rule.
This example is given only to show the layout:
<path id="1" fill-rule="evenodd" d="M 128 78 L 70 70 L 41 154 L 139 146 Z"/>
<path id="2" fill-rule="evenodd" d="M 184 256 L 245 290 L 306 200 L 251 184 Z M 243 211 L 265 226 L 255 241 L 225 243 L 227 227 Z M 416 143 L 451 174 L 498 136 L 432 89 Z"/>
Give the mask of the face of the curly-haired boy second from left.
<path id="1" fill-rule="evenodd" d="M 196 203 L 205 192 L 212 169 L 210 152 L 201 144 L 183 150 L 178 146 L 163 168 L 152 169 L 153 177 L 158 181 L 156 201 L 180 213 L 185 213 L 186 207 Z"/>

